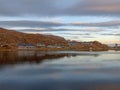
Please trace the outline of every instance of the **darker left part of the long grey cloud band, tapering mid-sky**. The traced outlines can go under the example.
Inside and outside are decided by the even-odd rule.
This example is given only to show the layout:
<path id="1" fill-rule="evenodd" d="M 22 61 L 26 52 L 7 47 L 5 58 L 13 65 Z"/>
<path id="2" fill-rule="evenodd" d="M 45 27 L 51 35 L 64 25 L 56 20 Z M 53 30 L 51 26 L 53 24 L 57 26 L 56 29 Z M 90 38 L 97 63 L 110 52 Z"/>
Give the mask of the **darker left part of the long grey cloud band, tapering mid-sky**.
<path id="1" fill-rule="evenodd" d="M 43 21 L 0 21 L 0 26 L 3 27 L 58 27 L 64 24 L 58 22 L 43 22 Z"/>

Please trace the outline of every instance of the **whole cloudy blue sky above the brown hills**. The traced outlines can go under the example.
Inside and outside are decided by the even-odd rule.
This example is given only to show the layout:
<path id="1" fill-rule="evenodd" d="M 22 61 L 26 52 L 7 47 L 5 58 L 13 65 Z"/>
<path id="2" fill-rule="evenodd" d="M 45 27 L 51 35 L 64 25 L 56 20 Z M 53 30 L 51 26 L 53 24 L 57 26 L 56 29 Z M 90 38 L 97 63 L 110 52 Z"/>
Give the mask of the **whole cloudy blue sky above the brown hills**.
<path id="1" fill-rule="evenodd" d="M 120 44 L 120 0 L 0 0 L 0 27 Z"/>

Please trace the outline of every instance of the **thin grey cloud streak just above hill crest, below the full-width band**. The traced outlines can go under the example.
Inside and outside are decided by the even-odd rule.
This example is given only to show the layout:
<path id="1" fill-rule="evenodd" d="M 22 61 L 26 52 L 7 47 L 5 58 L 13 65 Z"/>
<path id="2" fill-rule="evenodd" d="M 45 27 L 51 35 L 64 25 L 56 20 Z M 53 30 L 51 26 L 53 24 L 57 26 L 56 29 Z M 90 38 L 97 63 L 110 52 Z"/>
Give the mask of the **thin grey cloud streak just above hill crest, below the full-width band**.
<path id="1" fill-rule="evenodd" d="M 43 32 L 51 32 L 51 33 L 54 33 L 54 32 L 64 32 L 64 33 L 68 33 L 68 35 L 70 35 L 70 33 L 72 32 L 72 35 L 73 35 L 73 32 L 84 32 L 84 33 L 87 33 L 86 35 L 89 35 L 88 33 L 89 32 L 93 32 L 93 33 L 97 33 L 97 32 L 101 32 L 102 30 L 101 29 L 97 29 L 97 28 L 94 28 L 94 29 L 89 29 L 89 28 L 85 28 L 85 29 L 69 29 L 69 28 L 61 28 L 61 29 L 56 29 L 56 28 L 32 28 L 32 29 L 16 29 L 17 31 L 20 31 L 20 32 L 35 32 L 35 33 L 43 33 Z M 70 32 L 70 33 L 69 33 Z M 81 35 L 81 34 L 75 34 L 75 35 Z"/>

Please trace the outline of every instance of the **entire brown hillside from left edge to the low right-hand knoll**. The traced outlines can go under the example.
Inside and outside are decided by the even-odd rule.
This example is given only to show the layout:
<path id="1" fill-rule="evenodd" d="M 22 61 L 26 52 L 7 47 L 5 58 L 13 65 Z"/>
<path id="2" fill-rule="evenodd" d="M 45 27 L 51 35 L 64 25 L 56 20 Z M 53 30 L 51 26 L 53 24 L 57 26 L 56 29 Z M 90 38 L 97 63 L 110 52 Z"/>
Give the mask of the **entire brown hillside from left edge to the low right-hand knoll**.
<path id="1" fill-rule="evenodd" d="M 46 46 L 62 46 L 62 49 L 57 50 L 80 50 L 80 51 L 104 51 L 110 48 L 98 41 L 93 42 L 77 42 L 67 41 L 62 37 L 43 34 L 27 34 L 0 28 L 0 49 L 14 49 L 18 44 L 44 44 L 45 47 L 40 50 L 48 50 Z M 50 49 L 53 50 L 54 48 Z"/>

